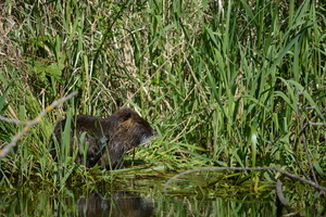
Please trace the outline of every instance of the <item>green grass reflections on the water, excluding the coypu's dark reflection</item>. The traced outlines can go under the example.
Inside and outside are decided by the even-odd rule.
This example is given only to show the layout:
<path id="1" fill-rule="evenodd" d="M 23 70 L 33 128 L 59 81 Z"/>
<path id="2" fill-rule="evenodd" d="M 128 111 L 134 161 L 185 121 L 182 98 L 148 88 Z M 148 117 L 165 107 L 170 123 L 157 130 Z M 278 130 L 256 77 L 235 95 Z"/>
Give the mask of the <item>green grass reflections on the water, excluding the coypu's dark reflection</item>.
<path id="1" fill-rule="evenodd" d="M 130 186 L 124 186 L 124 190 L 134 191 L 135 195 L 140 195 L 149 202 L 154 203 L 155 216 L 275 216 L 275 193 L 274 191 L 264 191 L 261 194 L 252 194 L 250 188 L 246 184 L 243 187 L 230 186 L 229 182 L 221 182 L 218 184 L 217 193 L 206 190 L 210 197 L 201 194 L 203 191 L 180 192 L 174 195 L 162 195 L 160 180 L 128 180 Z M 83 186 L 85 188 L 85 186 Z M 111 206 L 104 206 L 103 210 L 110 210 L 116 207 L 114 199 L 120 201 L 124 197 L 114 197 L 114 191 L 110 187 L 103 184 L 99 190 L 102 199 L 111 201 Z M 298 190 L 301 189 L 301 190 Z M 115 189 L 114 189 L 115 190 Z M 118 189 L 117 189 L 118 190 Z M 153 191 L 158 192 L 153 192 Z M 183 190 L 183 189 L 181 189 Z M 323 209 L 323 203 L 315 203 L 315 197 L 312 193 L 306 193 L 311 189 L 300 183 L 289 184 L 287 187 L 287 199 L 294 206 L 302 210 L 304 216 L 317 216 Z M 143 193 L 142 193 L 143 192 Z M 196 195 L 193 195 L 196 194 Z M 89 194 L 78 188 L 75 191 L 64 189 L 61 193 L 53 193 L 51 188 L 22 188 L 20 191 L 11 191 L 1 194 L 1 214 L 7 216 L 17 216 L 24 212 L 25 216 L 76 216 L 77 209 L 83 208 L 84 214 L 89 209 L 89 206 L 76 205 L 79 200 L 85 200 Z M 135 196 L 133 196 L 135 197 Z M 127 197 L 126 200 L 129 200 Z M 89 199 L 88 203 L 93 204 L 98 202 L 97 207 L 105 205 L 102 201 L 95 201 Z M 96 206 L 93 206 L 96 207 Z M 131 206 L 135 207 L 135 206 Z M 88 208 L 88 209 L 87 209 Z M 303 210 L 304 209 L 304 210 Z M 102 210 L 102 212 L 103 212 Z"/>

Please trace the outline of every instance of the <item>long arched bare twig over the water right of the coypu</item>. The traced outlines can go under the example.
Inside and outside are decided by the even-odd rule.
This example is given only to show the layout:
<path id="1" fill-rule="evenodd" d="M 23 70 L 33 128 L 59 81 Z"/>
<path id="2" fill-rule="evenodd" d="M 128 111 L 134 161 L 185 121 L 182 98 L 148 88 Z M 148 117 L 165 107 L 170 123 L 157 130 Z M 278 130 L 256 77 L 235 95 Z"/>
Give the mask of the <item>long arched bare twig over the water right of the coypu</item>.
<path id="1" fill-rule="evenodd" d="M 283 169 L 276 168 L 276 167 L 205 167 L 205 168 L 190 169 L 190 170 L 187 170 L 187 171 L 183 171 L 183 173 L 177 174 L 174 177 L 170 178 L 164 184 L 164 193 L 167 193 L 166 189 L 173 180 L 175 180 L 175 179 L 177 179 L 177 178 L 179 178 L 184 175 L 187 175 L 187 174 L 191 174 L 191 173 L 195 173 L 195 171 L 206 171 L 206 170 L 217 170 L 217 171 L 221 171 L 221 170 L 242 170 L 242 171 L 243 170 L 275 170 L 275 171 L 278 171 L 278 173 L 285 175 L 286 177 L 305 182 L 309 186 L 311 186 L 311 187 L 313 187 L 313 188 L 315 188 L 319 191 L 325 191 L 326 192 L 325 187 L 322 187 L 322 186 L 319 186 L 318 183 L 315 183 L 312 180 L 304 179 L 304 178 L 299 177 L 294 174 L 288 173 L 286 170 L 283 170 Z"/>

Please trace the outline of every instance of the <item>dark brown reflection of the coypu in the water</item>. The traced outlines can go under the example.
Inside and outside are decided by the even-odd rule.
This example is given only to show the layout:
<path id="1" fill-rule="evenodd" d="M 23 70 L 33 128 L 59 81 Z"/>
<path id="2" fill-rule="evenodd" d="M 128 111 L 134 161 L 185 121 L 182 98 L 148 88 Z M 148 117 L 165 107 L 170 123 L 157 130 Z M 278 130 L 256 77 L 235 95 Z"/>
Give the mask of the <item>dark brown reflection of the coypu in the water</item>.
<path id="1" fill-rule="evenodd" d="M 148 217 L 154 214 L 154 205 L 150 199 L 127 191 L 116 192 L 109 199 L 95 191 L 77 201 L 77 210 L 79 217 Z"/>

